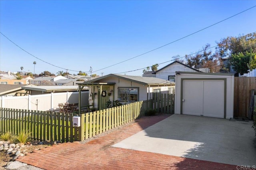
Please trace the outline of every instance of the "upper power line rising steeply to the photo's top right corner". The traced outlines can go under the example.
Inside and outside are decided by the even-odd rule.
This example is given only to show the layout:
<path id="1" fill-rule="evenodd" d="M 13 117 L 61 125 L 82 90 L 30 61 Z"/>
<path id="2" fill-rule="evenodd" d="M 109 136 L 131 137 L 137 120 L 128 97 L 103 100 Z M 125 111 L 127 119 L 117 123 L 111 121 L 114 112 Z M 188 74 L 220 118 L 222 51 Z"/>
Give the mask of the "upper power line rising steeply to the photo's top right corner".
<path id="1" fill-rule="evenodd" d="M 118 64 L 120 64 L 120 63 L 124 63 L 125 61 L 134 59 L 134 58 L 136 58 L 136 57 L 140 57 L 141 55 L 150 53 L 150 52 L 152 52 L 152 51 L 155 51 L 155 50 L 157 50 L 157 49 L 160 49 L 160 48 L 162 48 L 162 47 L 165 47 L 166 45 L 170 45 L 171 43 L 174 43 L 174 42 L 177 42 L 177 41 L 182 40 L 182 39 L 184 39 L 184 38 L 187 38 L 188 36 L 192 36 L 193 34 L 196 34 L 196 33 L 198 33 L 198 32 L 201 32 L 201 31 L 203 31 L 203 30 L 205 30 L 205 29 L 207 29 L 207 28 L 210 28 L 210 27 L 212 27 L 212 26 L 214 26 L 214 25 L 216 25 L 216 24 L 219 24 L 219 23 L 221 23 L 221 22 L 223 22 L 223 21 L 226 21 L 226 20 L 228 20 L 228 19 L 230 19 L 230 18 L 232 18 L 232 17 L 234 17 L 234 16 L 237 16 L 237 15 L 239 15 L 239 14 L 242 14 L 243 12 L 246 12 L 246 11 L 248 11 L 248 10 L 254 8 L 254 7 L 256 7 L 256 5 L 253 6 L 253 7 L 251 7 L 251 8 L 248 8 L 247 10 L 244 10 L 244 11 L 242 11 L 242 12 L 239 12 L 239 13 L 233 15 L 233 16 L 230 16 L 230 17 L 228 17 L 228 18 L 226 18 L 226 19 L 224 19 L 224 20 L 221 20 L 221 21 L 219 21 L 219 22 L 216 22 L 215 24 L 212 24 L 212 25 L 210 25 L 210 26 L 208 26 L 208 27 L 206 27 L 206 28 L 203 28 L 203 29 L 201 29 L 201 30 L 198 30 L 198 31 L 192 33 L 192 34 L 189 34 L 189 35 L 187 35 L 187 36 L 184 36 L 184 37 L 182 37 L 182 38 L 180 38 L 180 39 L 178 39 L 178 40 L 175 40 L 175 41 L 173 41 L 173 42 L 167 43 L 167 44 L 165 44 L 165 45 L 162 45 L 162 46 L 160 46 L 160 47 L 157 47 L 157 48 L 155 48 L 155 49 L 152 49 L 152 50 L 150 50 L 150 51 L 148 51 L 148 52 L 142 53 L 142 54 L 137 55 L 137 56 L 135 56 L 135 57 L 132 57 L 132 58 L 130 58 L 130 59 L 126 59 L 126 60 L 121 61 L 121 62 L 119 62 L 119 63 L 110 65 L 110 66 L 108 66 L 108 67 L 112 67 L 112 66 L 114 66 L 114 65 L 118 65 Z M 108 68 L 108 67 L 104 67 L 103 69 L 106 69 L 106 68 Z M 96 71 L 100 71 L 100 70 L 103 70 L 103 69 L 98 69 L 98 70 L 96 70 Z M 96 71 L 94 71 L 94 72 L 96 72 Z"/>

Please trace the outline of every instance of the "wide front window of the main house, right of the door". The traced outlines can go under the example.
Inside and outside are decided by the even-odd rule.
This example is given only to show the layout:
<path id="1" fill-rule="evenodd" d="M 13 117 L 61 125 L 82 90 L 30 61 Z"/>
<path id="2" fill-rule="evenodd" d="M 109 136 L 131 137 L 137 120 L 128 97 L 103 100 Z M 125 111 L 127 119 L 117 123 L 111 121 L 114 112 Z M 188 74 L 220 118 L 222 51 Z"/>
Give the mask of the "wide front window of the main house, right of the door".
<path id="1" fill-rule="evenodd" d="M 124 88 L 118 87 L 118 100 L 119 101 L 138 101 L 139 88 Z"/>

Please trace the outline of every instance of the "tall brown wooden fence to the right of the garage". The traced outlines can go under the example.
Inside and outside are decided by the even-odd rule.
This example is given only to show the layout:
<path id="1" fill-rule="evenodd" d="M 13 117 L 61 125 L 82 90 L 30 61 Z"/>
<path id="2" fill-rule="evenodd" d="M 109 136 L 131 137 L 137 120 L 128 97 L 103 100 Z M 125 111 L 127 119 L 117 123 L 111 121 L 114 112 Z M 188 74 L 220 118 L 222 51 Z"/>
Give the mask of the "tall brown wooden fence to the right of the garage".
<path id="1" fill-rule="evenodd" d="M 234 78 L 234 117 L 248 118 L 252 89 L 256 90 L 256 77 Z"/>

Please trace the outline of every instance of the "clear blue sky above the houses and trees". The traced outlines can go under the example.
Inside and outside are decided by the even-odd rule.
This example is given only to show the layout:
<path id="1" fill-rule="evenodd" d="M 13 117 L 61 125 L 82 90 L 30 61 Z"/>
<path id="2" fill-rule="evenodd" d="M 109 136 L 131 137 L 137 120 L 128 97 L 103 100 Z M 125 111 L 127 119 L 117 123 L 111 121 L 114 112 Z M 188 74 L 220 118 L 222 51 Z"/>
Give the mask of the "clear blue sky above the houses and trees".
<path id="1" fill-rule="evenodd" d="M 0 0 L 0 32 L 53 65 L 97 75 L 120 73 L 191 54 L 206 43 L 256 31 L 256 8 L 188 38 L 130 59 L 256 5 L 256 1 Z M 65 71 L 0 35 L 0 70 Z M 158 69 L 172 61 L 159 65 Z M 77 74 L 75 71 L 69 73 Z M 142 75 L 142 70 L 126 73 Z"/>

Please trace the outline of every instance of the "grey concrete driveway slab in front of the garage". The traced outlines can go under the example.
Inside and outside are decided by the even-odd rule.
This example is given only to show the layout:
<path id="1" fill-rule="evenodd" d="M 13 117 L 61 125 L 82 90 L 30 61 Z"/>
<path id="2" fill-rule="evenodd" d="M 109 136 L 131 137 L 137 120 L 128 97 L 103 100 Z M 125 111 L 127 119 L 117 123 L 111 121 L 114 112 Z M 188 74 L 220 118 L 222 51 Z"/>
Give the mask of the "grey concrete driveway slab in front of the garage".
<path id="1" fill-rule="evenodd" d="M 172 115 L 113 147 L 256 166 L 252 121 Z"/>

